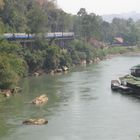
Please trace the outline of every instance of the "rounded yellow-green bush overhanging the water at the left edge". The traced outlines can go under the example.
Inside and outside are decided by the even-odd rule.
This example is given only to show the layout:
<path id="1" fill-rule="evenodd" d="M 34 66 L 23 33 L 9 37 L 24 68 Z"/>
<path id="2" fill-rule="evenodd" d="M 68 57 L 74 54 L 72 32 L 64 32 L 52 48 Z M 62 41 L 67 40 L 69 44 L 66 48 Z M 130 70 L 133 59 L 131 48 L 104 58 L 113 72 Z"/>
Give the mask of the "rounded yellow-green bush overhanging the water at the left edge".
<path id="1" fill-rule="evenodd" d="M 25 75 L 25 65 L 22 59 L 14 55 L 0 54 L 0 88 L 11 88 L 19 78 Z"/>

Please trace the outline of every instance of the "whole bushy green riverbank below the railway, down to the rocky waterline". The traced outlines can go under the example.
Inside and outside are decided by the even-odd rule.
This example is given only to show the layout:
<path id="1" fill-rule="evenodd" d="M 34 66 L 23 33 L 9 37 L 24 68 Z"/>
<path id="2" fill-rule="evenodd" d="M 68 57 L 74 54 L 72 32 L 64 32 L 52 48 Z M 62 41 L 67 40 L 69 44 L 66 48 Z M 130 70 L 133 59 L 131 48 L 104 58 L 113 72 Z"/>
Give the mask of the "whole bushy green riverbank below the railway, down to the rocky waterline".
<path id="1" fill-rule="evenodd" d="M 137 52 L 138 47 L 91 46 L 79 40 L 72 41 L 66 48 L 49 46 L 47 42 L 35 42 L 32 47 L 3 41 L 0 55 L 0 89 L 14 89 L 25 76 L 40 76 L 43 73 L 66 72 L 73 66 L 97 63 L 111 55 Z M 8 56 L 8 58 L 7 58 Z"/>

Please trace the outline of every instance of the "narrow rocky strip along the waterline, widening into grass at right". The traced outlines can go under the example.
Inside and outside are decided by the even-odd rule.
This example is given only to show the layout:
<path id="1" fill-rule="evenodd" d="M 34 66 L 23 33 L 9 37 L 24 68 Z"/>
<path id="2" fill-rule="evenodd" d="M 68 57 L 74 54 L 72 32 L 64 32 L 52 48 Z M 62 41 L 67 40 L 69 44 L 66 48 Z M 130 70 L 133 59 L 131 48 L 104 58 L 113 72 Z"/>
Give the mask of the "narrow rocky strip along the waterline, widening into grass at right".
<path id="1" fill-rule="evenodd" d="M 86 66 L 89 64 L 94 64 L 94 63 L 98 63 L 104 59 L 111 59 L 114 56 L 119 56 L 119 55 L 135 55 L 135 54 L 140 54 L 140 48 L 139 47 L 135 47 L 135 46 L 115 46 L 115 47 L 105 47 L 105 48 L 98 48 L 95 49 L 94 52 L 94 57 L 93 59 L 90 60 L 80 60 L 79 63 L 77 64 L 73 64 L 70 67 L 68 66 L 60 66 L 58 69 L 49 69 L 49 70 L 38 70 L 34 73 L 32 73 L 32 76 L 39 76 L 42 75 L 43 73 L 46 74 L 55 74 L 55 73 L 62 73 L 62 72 L 66 72 L 69 71 L 70 69 L 72 69 L 75 66 Z"/>

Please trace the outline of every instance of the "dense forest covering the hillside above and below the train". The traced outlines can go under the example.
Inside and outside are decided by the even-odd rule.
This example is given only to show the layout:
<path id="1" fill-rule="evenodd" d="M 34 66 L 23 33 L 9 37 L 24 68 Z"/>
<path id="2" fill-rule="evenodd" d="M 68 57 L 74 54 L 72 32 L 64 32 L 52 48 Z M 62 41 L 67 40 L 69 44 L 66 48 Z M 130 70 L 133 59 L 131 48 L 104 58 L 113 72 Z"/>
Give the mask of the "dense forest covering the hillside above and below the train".
<path id="1" fill-rule="evenodd" d="M 128 46 L 140 43 L 140 20 L 114 18 L 111 23 L 95 13 L 79 9 L 71 15 L 58 8 L 54 0 L 0 0 L 0 34 L 74 32 L 75 40 L 62 49 L 55 42 L 37 37 L 32 47 L 0 39 L 0 89 L 11 88 L 21 77 L 40 69 L 54 70 L 102 59 L 113 53 L 114 37 L 122 37 Z M 113 48 L 114 49 L 114 48 Z M 117 49 L 115 50 L 117 52 Z M 125 51 L 124 47 L 120 48 Z"/>

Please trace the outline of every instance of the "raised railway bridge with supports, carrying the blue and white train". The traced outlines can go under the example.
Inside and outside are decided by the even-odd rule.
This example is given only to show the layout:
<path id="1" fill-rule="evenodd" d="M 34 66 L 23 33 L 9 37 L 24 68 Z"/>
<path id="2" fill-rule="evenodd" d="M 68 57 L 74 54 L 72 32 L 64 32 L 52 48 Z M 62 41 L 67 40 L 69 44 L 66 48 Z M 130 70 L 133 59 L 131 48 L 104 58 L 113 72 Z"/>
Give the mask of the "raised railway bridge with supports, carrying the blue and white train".
<path id="1" fill-rule="evenodd" d="M 8 41 L 19 42 L 22 46 L 32 46 L 32 43 L 38 37 L 39 36 L 35 34 L 26 33 L 5 33 L 1 35 L 1 38 Z M 75 34 L 74 32 L 51 32 L 42 34 L 41 37 L 48 40 L 49 44 L 54 41 L 60 47 L 66 47 L 69 41 L 74 40 Z"/>

